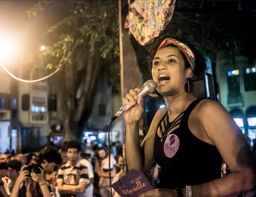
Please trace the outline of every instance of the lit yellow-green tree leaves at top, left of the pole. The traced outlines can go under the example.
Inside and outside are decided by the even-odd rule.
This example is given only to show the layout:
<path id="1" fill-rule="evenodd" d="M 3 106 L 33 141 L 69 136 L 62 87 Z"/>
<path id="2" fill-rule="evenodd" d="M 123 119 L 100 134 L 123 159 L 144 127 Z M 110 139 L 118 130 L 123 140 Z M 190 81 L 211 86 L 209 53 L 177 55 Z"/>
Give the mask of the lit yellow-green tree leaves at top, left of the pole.
<path id="1" fill-rule="evenodd" d="M 38 1 L 27 11 L 29 18 L 36 17 L 52 2 L 54 1 Z M 39 58 L 46 62 L 46 68 L 56 68 L 60 63 L 63 65 L 67 61 L 74 64 L 83 50 L 93 52 L 95 45 L 100 46 L 101 57 L 113 63 L 109 69 L 116 68 L 115 65 L 119 62 L 117 3 L 117 1 L 70 2 L 68 15 L 47 30 L 49 35 L 59 35 L 57 36 L 59 39 L 51 46 L 46 46 L 39 55 Z M 118 75 L 113 77 L 119 78 Z"/>

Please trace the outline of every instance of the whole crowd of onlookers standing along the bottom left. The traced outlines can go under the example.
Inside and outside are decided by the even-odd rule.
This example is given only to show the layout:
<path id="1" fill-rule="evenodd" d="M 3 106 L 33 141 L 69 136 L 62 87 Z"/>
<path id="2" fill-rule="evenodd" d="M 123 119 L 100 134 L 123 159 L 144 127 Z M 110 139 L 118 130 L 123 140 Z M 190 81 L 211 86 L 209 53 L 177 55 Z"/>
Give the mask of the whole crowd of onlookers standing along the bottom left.
<path id="1" fill-rule="evenodd" d="M 109 169 L 112 179 L 121 178 L 124 158 L 122 145 L 113 145 L 110 150 L 109 154 L 107 145 L 99 147 L 94 143 L 82 150 L 80 142 L 71 140 L 64 142 L 61 149 L 49 145 L 25 155 L 2 153 L 0 196 L 111 196 Z"/>

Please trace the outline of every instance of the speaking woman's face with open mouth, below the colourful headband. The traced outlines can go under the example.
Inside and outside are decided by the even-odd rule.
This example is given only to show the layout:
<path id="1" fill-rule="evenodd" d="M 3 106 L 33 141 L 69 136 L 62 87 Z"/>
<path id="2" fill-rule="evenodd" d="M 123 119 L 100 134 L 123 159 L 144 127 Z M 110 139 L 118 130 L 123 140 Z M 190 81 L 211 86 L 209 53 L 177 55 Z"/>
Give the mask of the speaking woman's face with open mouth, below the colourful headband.
<path id="1" fill-rule="evenodd" d="M 158 83 L 157 91 L 163 96 L 174 96 L 185 91 L 189 72 L 181 53 L 180 49 L 167 46 L 159 49 L 153 59 L 153 80 Z"/>

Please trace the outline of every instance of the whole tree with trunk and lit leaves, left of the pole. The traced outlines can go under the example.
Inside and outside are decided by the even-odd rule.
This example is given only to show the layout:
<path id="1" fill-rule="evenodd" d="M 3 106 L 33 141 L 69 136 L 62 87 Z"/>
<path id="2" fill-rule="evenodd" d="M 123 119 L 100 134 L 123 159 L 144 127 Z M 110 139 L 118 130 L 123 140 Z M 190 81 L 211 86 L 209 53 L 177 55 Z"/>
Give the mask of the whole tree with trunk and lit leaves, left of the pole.
<path id="1" fill-rule="evenodd" d="M 56 3 L 39 1 L 27 14 L 37 17 Z M 46 46 L 39 58 L 50 70 L 61 67 L 59 96 L 67 140 L 80 137 L 92 110 L 98 81 L 119 80 L 118 2 L 60 3 L 61 7 L 69 6 L 70 11 L 47 29 L 47 37 L 53 44 Z"/>

